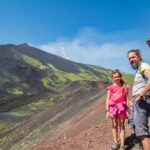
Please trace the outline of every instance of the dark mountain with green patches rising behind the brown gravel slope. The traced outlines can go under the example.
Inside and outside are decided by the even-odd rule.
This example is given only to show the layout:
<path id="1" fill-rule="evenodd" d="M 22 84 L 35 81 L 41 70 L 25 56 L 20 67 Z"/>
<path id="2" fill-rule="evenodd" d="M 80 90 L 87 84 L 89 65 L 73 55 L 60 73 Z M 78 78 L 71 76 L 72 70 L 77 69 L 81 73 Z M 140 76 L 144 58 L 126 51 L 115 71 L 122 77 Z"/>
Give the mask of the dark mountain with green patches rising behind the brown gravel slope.
<path id="1" fill-rule="evenodd" d="M 27 44 L 0 45 L 0 68 L 1 111 L 28 103 L 23 99 L 33 95 L 57 93 L 73 81 L 110 80 L 107 69 L 66 60 Z M 18 103 L 21 96 L 22 103 Z M 8 101 L 14 104 L 7 106 Z"/>

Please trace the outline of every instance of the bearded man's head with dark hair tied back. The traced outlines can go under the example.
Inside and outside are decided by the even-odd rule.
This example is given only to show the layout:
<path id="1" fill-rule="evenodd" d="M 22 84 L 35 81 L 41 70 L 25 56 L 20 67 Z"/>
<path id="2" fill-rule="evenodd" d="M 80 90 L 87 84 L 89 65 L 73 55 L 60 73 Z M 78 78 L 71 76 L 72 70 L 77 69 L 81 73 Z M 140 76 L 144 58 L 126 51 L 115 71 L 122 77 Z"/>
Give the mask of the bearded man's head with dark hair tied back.
<path id="1" fill-rule="evenodd" d="M 143 61 L 139 49 L 132 49 L 128 51 L 128 60 L 133 69 L 137 70 L 140 63 Z"/>

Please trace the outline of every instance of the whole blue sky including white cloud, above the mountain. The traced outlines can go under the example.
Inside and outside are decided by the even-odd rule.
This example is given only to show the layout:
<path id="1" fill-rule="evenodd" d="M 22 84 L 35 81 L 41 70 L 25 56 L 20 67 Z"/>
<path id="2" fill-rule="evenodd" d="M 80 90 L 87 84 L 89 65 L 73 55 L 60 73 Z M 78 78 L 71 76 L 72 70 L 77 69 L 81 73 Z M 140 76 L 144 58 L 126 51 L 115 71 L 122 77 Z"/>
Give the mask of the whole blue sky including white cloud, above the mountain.
<path id="1" fill-rule="evenodd" d="M 132 72 L 129 49 L 141 48 L 150 62 L 149 18 L 148 0 L 0 0 L 0 44 Z"/>

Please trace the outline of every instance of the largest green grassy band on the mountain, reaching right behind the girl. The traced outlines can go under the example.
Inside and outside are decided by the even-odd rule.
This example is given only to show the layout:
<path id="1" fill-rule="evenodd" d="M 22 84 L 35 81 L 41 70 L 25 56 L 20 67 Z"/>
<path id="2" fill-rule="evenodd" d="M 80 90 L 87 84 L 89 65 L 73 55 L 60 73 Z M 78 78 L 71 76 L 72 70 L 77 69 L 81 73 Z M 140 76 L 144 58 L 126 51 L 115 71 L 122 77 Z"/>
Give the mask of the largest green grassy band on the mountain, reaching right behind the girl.
<path id="1" fill-rule="evenodd" d="M 65 85 L 69 81 L 78 81 L 78 80 L 88 80 L 88 81 L 99 81 L 99 80 L 107 80 L 112 81 L 111 78 L 111 70 L 105 69 L 103 67 L 94 66 L 94 65 L 86 65 L 87 69 L 76 65 L 80 73 L 67 73 L 57 69 L 52 64 L 48 64 L 48 67 L 53 71 L 53 76 L 56 80 L 52 80 L 50 77 L 45 77 L 42 79 L 43 85 L 51 90 L 61 89 L 61 86 Z M 88 69 L 89 68 L 89 69 Z M 93 73 L 94 72 L 94 73 Z M 123 73 L 123 78 L 127 84 L 132 84 L 133 75 Z M 52 87 L 53 86 L 53 87 Z M 57 88 L 58 87 L 58 88 Z"/>

